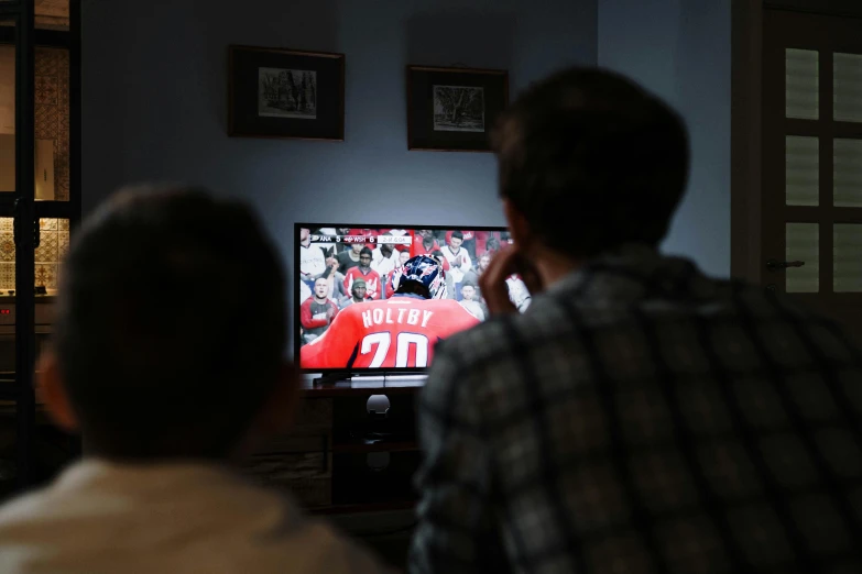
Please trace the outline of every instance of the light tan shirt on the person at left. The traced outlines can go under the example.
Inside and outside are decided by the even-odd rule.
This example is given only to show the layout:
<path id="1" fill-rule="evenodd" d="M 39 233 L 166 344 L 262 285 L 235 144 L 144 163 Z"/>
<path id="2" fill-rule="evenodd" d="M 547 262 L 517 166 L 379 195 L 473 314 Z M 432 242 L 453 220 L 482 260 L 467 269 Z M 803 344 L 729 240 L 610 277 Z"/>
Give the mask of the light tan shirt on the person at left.
<path id="1" fill-rule="evenodd" d="M 88 460 L 0 508 L 3 574 L 383 571 L 288 497 L 216 465 Z"/>

